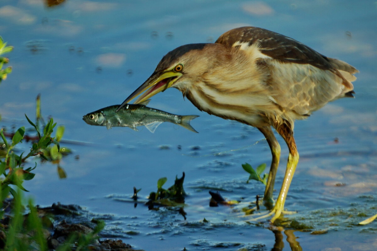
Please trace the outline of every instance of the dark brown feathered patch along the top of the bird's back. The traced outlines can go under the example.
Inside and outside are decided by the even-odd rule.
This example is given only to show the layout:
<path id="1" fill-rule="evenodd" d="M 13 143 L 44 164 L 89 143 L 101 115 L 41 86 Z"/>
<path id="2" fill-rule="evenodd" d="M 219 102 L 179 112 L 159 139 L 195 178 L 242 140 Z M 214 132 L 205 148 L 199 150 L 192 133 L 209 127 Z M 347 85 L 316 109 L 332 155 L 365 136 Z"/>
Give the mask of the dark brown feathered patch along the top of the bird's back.
<path id="1" fill-rule="evenodd" d="M 232 47 L 234 44 L 259 43 L 259 51 L 275 60 L 311 64 L 323 70 L 334 69 L 328 58 L 293 38 L 257 27 L 240 27 L 222 34 L 215 43 Z"/>

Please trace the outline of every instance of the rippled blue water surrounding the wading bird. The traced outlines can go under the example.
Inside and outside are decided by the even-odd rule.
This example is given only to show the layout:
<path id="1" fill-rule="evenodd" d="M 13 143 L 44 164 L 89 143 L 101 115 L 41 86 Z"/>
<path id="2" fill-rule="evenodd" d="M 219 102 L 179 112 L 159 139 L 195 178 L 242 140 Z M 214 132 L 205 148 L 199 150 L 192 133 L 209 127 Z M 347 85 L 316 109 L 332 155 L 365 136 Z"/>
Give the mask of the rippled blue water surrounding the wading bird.
<path id="1" fill-rule="evenodd" d="M 42 113 L 65 126 L 63 138 L 89 142 L 65 145 L 73 150 L 61 162 L 67 179 L 58 179 L 55 165 L 38 164 L 35 178 L 25 182 L 38 204 L 60 201 L 104 214 L 110 233 L 145 250 L 269 250 L 275 244 L 271 230 L 244 223 L 234 208 L 208 207 L 209 188 L 245 202 L 263 193 L 262 184 L 245 183 L 248 175 L 241 168 L 245 162 L 253 167 L 270 163 L 270 150 L 258 130 L 202 113 L 175 89 L 159 93 L 149 106 L 200 115 L 192 121 L 199 134 L 170 123 L 154 134 L 106 130 L 81 118 L 120 104 L 179 45 L 213 42 L 246 25 L 288 35 L 360 70 L 356 99 L 330 103 L 295 124 L 300 162 L 286 208 L 299 211 L 291 217 L 328 233 L 294 234 L 306 251 L 375 250 L 376 222 L 354 224 L 365 219 L 358 213 L 371 216 L 377 205 L 376 14 L 373 1 L 67 0 L 47 8 L 39 0 L 2 0 L 0 35 L 15 49 L 8 54 L 13 72 L 0 86 L 0 123 L 7 128 L 27 125 L 24 113 L 33 116 L 41 93 Z M 278 140 L 282 158 L 276 189 L 288 156 Z M 187 220 L 174 210 L 148 211 L 142 204 L 134 208 L 115 200 L 129 198 L 134 186 L 146 197 L 156 190 L 158 178 L 167 177 L 169 187 L 183 171 Z M 344 214 L 333 216 L 339 211 Z M 290 250 L 283 236 L 284 250 Z"/>

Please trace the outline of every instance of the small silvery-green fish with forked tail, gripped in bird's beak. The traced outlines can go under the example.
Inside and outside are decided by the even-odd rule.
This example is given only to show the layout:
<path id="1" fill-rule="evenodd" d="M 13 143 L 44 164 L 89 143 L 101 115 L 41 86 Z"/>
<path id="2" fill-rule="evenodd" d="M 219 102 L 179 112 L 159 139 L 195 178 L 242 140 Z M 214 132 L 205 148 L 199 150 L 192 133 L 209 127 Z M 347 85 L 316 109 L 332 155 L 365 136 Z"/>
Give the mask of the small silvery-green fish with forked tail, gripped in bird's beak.
<path id="1" fill-rule="evenodd" d="M 120 105 L 107 106 L 83 116 L 83 120 L 93 126 L 106 126 L 107 129 L 115 126 L 130 127 L 138 131 L 136 127 L 145 126 L 154 133 L 162 122 L 171 122 L 182 126 L 192 132 L 198 133 L 190 121 L 198 115 L 175 115 L 158 109 L 147 107 L 150 99 L 140 104 L 126 104 L 116 112 Z"/>

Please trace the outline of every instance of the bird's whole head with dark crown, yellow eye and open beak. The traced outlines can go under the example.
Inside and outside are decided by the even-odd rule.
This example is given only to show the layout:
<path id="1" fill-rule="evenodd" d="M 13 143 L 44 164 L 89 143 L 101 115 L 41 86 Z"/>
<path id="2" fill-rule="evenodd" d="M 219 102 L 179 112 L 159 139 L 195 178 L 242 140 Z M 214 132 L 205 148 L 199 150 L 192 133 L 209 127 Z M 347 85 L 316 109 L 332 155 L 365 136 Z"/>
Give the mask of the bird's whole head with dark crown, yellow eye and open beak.
<path id="1" fill-rule="evenodd" d="M 133 98 L 139 96 L 134 102 L 141 103 L 169 87 L 184 90 L 195 83 L 203 74 L 208 72 L 219 54 L 221 44 L 185 44 L 170 51 L 158 63 L 152 75 L 136 89 L 126 100 L 123 101 L 121 109 Z"/>

